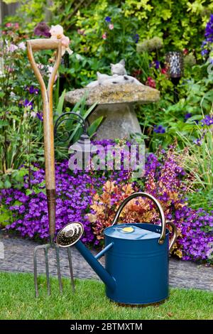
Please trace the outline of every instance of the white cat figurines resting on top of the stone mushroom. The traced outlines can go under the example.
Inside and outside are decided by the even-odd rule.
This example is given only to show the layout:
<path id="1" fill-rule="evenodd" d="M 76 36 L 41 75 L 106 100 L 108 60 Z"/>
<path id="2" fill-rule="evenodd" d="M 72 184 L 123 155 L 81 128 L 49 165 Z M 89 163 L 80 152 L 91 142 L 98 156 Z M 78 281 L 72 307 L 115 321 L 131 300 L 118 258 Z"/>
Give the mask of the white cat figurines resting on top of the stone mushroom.
<path id="1" fill-rule="evenodd" d="M 111 75 L 97 72 L 97 80 L 90 82 L 87 87 L 108 86 L 108 85 L 124 85 L 126 83 L 135 83 L 143 85 L 135 77 L 126 74 L 125 61 L 120 60 L 119 63 L 110 64 Z"/>

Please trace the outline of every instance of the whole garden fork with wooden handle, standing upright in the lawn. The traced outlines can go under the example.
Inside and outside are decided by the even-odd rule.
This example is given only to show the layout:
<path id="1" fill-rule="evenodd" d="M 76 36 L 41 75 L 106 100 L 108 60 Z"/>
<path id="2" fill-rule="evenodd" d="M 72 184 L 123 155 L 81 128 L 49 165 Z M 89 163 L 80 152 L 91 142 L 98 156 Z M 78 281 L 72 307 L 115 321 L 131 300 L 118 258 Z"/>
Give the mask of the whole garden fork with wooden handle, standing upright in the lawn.
<path id="1" fill-rule="evenodd" d="M 48 89 L 45 87 L 38 66 L 35 63 L 33 51 L 39 50 L 57 50 L 55 55 L 55 64 L 53 71 L 48 81 Z M 61 42 L 56 39 L 36 39 L 27 41 L 28 59 L 31 63 L 35 77 L 37 77 L 40 84 L 41 95 L 43 99 L 43 129 L 44 129 L 44 151 L 45 151 L 45 185 L 48 200 L 48 220 L 49 220 L 49 232 L 50 243 L 43 244 L 35 247 L 33 254 L 34 264 L 34 282 L 35 282 L 35 297 L 38 297 L 38 273 L 37 273 L 37 253 L 40 249 L 44 250 L 45 254 L 45 272 L 47 279 L 48 296 L 50 296 L 50 274 L 48 265 L 48 250 L 50 248 L 55 249 L 58 282 L 60 287 L 60 293 L 62 293 L 62 278 L 60 273 L 60 254 L 58 244 L 54 242 L 55 239 L 55 156 L 54 156 L 54 132 L 53 132 L 53 84 L 55 81 L 55 75 L 58 71 L 61 60 L 62 46 Z M 71 249 L 67 248 L 68 261 L 70 266 L 70 277 L 72 291 L 75 291 L 73 271 L 72 271 L 72 257 Z"/>

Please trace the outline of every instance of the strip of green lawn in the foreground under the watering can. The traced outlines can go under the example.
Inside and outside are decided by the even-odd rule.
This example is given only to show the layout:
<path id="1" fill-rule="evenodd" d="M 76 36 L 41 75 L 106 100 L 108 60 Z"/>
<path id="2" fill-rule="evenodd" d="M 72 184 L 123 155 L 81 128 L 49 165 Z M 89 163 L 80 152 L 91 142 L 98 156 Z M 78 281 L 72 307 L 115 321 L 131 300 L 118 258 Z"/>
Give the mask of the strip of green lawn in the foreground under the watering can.
<path id="1" fill-rule="evenodd" d="M 51 279 L 52 295 L 46 295 L 45 278 L 39 278 L 40 297 L 35 299 L 33 275 L 0 273 L 0 319 L 213 319 L 213 293 L 171 289 L 160 306 L 129 308 L 105 297 L 104 284 L 77 279 L 72 294 L 64 279 L 60 296 L 57 279 Z"/>

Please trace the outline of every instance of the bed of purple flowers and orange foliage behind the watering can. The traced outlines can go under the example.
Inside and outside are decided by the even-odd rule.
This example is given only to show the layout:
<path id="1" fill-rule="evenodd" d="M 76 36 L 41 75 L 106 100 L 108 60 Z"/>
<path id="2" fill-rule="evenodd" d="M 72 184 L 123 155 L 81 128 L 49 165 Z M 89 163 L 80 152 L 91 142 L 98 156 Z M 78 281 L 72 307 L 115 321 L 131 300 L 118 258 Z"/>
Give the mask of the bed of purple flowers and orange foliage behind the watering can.
<path id="1" fill-rule="evenodd" d="M 174 149 L 149 154 L 146 171 L 140 181 L 131 179 L 129 171 L 70 171 L 67 161 L 56 165 L 56 230 L 67 222 L 81 221 L 83 242 L 102 245 L 103 230 L 111 224 L 119 204 L 134 191 L 142 190 L 158 198 L 167 220 L 178 227 L 178 240 L 173 254 L 184 260 L 211 262 L 213 212 L 192 210 L 185 195 L 190 178 L 180 166 L 181 158 Z M 4 210 L 10 210 L 7 230 L 23 237 L 48 238 L 48 209 L 43 168 L 34 168 L 31 189 L 26 177 L 23 189 L 1 190 Z M 137 198 L 126 205 L 121 221 L 158 223 L 153 203 Z M 8 222 L 9 223 L 9 222 Z"/>

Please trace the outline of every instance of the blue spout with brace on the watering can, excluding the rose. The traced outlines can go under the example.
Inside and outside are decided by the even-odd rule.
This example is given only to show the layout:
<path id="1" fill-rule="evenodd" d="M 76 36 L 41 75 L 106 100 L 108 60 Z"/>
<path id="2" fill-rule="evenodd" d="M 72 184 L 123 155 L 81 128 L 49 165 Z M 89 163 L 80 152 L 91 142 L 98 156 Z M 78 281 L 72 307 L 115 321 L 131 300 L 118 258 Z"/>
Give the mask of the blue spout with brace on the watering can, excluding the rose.
<path id="1" fill-rule="evenodd" d="M 82 254 L 82 257 L 87 261 L 89 266 L 92 267 L 92 269 L 96 272 L 96 274 L 99 276 L 100 279 L 106 284 L 106 286 L 111 290 L 114 291 L 116 289 L 116 281 L 115 279 L 108 273 L 108 271 L 100 264 L 98 259 L 104 255 L 105 252 L 109 248 L 113 246 L 113 243 L 109 244 L 107 247 L 105 247 L 99 254 L 97 254 L 96 257 L 92 255 L 91 252 L 87 249 L 87 247 L 84 246 L 84 244 L 79 240 L 76 242 L 75 247 L 77 250 Z"/>

